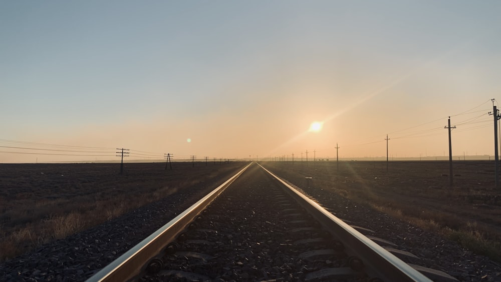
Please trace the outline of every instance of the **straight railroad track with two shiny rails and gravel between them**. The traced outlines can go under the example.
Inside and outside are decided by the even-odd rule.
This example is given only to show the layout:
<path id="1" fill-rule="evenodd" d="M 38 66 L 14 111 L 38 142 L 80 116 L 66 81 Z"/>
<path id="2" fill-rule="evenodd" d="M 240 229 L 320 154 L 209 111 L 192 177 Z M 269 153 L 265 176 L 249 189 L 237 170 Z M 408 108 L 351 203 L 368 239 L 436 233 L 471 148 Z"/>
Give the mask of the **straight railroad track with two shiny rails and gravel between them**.
<path id="1" fill-rule="evenodd" d="M 356 228 L 251 163 L 88 281 L 455 280 Z"/>

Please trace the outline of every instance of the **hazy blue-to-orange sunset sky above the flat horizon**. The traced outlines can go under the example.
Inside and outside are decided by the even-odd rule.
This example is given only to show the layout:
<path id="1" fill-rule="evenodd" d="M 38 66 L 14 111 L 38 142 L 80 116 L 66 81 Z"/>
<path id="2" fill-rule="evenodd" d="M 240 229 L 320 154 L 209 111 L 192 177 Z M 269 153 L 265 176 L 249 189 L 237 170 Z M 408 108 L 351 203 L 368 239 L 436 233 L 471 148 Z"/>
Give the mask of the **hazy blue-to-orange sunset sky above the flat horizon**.
<path id="1" fill-rule="evenodd" d="M 443 157 L 449 116 L 453 155 L 493 155 L 500 14 L 488 0 L 0 1 L 0 163 L 374 158 L 386 134 L 390 157 Z"/>

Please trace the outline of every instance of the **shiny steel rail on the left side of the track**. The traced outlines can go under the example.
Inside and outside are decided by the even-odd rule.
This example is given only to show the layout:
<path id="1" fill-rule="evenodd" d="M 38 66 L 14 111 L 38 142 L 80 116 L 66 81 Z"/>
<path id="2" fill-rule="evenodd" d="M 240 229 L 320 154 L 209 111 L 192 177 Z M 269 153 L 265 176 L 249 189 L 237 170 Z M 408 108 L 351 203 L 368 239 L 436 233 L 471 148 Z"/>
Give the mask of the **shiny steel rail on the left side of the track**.
<path id="1" fill-rule="evenodd" d="M 146 237 L 140 243 L 126 251 L 110 264 L 87 279 L 94 281 L 128 281 L 145 270 L 147 263 L 158 255 L 161 250 L 180 233 L 210 202 L 212 202 L 226 187 L 228 187 L 251 164 L 212 190 L 191 207 L 180 213 L 174 219 Z"/>

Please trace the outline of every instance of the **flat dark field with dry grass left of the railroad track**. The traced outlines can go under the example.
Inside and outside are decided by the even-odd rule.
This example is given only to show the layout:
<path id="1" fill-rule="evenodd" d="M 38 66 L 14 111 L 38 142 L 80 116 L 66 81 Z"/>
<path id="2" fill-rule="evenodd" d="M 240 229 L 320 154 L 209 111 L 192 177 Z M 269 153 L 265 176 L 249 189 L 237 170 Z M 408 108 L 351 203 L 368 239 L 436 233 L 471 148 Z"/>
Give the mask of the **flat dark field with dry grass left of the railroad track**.
<path id="1" fill-rule="evenodd" d="M 244 164 L 0 164 L 0 261 L 180 189 L 215 188 Z"/>

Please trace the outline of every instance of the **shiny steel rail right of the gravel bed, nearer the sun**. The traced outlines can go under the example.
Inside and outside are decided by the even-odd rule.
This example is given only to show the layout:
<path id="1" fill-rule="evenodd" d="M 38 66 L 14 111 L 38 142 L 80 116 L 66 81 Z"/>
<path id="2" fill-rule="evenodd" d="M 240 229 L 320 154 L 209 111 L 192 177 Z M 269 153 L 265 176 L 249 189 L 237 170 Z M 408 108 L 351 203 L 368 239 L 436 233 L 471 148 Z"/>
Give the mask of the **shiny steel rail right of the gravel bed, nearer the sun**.
<path id="1" fill-rule="evenodd" d="M 376 244 L 341 219 L 332 215 L 318 203 L 300 193 L 280 177 L 264 168 L 261 164 L 259 164 L 259 166 L 288 188 L 285 190 L 298 202 L 298 204 L 317 219 L 333 236 L 345 246 L 349 246 L 346 252 L 349 255 L 355 255 L 363 261 L 364 265 L 369 266 L 363 269 L 367 274 L 372 277 L 378 277 L 383 281 L 431 281 L 428 277 L 391 254 L 380 245 Z"/>

